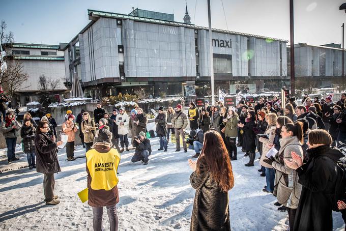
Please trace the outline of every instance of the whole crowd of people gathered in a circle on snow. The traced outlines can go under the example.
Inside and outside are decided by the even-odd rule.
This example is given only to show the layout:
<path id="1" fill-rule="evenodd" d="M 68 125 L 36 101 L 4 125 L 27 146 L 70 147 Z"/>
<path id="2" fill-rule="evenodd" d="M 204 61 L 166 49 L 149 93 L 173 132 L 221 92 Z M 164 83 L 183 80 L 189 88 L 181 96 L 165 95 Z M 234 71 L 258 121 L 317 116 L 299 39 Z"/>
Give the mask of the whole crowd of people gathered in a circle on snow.
<path id="1" fill-rule="evenodd" d="M 210 105 L 206 100 L 202 108 L 190 102 L 187 113 L 181 104 L 167 110 L 159 108 L 155 118 L 158 150 L 167 152 L 169 138 L 174 135 L 176 152 L 181 151 L 182 145 L 185 153 L 192 149 L 195 151 L 192 158 L 198 158 L 189 159 L 193 169 L 190 181 L 196 189 L 191 230 L 230 230 L 227 192 L 234 186 L 231 161 L 237 161 L 237 147 L 249 158 L 246 167 L 254 166 L 259 154 L 258 172 L 266 178 L 263 191 L 276 197 L 274 205 L 278 211 L 287 212 L 290 230 L 332 229 L 335 197 L 331 195 L 338 178 L 335 168 L 343 156 L 336 147 L 346 143 L 346 95 L 342 94 L 335 104 L 331 95 L 321 101 L 305 95 L 302 105 L 297 105 L 294 97 L 285 101 L 283 105 L 274 96 L 272 100 L 264 97 L 251 103 L 241 99 L 235 106 L 224 106 L 221 101 Z M 116 230 L 120 154 L 130 151 L 130 134 L 135 149 L 131 161 L 148 164 L 152 152 L 146 135 L 148 119 L 137 105 L 129 115 L 124 107 L 114 108 L 110 115 L 98 103 L 93 115 L 94 118 L 81 110 L 75 117 L 71 110 L 67 111 L 62 125 L 62 132 L 68 136 L 67 160 L 75 160 L 75 133 L 79 130 L 86 152 L 94 229 L 101 225 L 99 208 L 107 207 L 111 230 Z M 57 146 L 62 144 L 56 141 L 56 126 L 51 114 L 37 124 L 30 113 L 24 115 L 19 125 L 12 112 L 6 113 L 1 124 L 9 164 L 18 160 L 14 150 L 20 134 L 29 167 L 44 174 L 47 205 L 60 202 L 53 194 L 53 174 L 60 171 Z M 190 133 L 186 139 L 188 126 Z M 346 211 L 341 200 L 336 207 L 342 213 Z"/>

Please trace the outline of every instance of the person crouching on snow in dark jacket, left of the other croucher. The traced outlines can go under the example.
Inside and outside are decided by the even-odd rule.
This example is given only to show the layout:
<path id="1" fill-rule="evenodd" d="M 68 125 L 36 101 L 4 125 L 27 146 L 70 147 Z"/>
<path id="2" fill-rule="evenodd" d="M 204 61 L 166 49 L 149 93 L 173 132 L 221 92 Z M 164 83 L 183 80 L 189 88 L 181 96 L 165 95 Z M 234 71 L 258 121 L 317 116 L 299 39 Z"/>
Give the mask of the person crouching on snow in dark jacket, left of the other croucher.
<path id="1" fill-rule="evenodd" d="M 147 165 L 151 154 L 151 145 L 145 132 L 139 132 L 138 136 L 133 137 L 132 147 L 135 147 L 136 150 L 131 161 L 134 163 L 141 160 L 144 165 Z"/>

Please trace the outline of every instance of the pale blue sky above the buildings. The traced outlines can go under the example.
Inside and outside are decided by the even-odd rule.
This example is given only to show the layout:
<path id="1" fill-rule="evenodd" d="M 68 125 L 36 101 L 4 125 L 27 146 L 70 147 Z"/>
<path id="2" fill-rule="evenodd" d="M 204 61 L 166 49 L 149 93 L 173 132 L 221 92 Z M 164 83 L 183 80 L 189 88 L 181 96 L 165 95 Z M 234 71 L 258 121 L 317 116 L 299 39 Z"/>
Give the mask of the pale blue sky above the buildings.
<path id="1" fill-rule="evenodd" d="M 290 39 L 289 0 L 211 0 L 212 26 L 230 31 Z M 295 43 L 341 43 L 346 0 L 295 0 Z M 196 6 L 196 7 L 195 7 Z M 185 0 L 0 0 L 0 19 L 15 42 L 70 42 L 88 24 L 88 9 L 128 14 L 132 7 L 174 13 L 183 21 Z M 191 22 L 208 26 L 207 0 L 188 0 Z M 227 23 L 226 23 L 227 22 Z M 228 27 L 228 28 L 227 28 Z"/>

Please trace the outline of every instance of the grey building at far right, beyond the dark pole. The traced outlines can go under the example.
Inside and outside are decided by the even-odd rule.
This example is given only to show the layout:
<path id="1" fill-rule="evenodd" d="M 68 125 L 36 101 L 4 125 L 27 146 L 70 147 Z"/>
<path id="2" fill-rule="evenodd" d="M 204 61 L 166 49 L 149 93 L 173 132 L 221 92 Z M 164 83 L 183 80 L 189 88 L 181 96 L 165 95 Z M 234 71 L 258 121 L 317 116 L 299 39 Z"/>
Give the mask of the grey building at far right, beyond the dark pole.
<path id="1" fill-rule="evenodd" d="M 312 46 L 295 44 L 295 76 L 297 80 L 313 79 L 314 88 L 331 87 L 342 80 L 342 49 L 339 44 Z M 287 66 L 290 75 L 290 49 L 287 49 Z M 344 51 L 344 68 L 346 52 Z M 346 70 L 345 70 L 346 72 Z"/>

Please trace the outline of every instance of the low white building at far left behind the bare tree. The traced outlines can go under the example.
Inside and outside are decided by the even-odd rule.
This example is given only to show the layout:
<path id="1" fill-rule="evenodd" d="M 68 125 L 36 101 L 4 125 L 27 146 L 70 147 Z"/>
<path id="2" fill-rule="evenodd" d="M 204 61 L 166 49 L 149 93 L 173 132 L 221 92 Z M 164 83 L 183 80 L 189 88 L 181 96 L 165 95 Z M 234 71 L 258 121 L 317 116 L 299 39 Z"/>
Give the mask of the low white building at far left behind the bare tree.
<path id="1" fill-rule="evenodd" d="M 59 45 L 8 43 L 3 44 L 3 49 L 6 50 L 7 65 L 20 62 L 23 73 L 28 75 L 27 81 L 22 82 L 15 92 L 12 105 L 38 101 L 38 94 L 42 91 L 38 84 L 41 75 L 46 76 L 47 81 L 60 80 L 54 90 L 51 90 L 47 83 L 50 94 L 66 93 L 64 52 L 58 50 Z"/>

